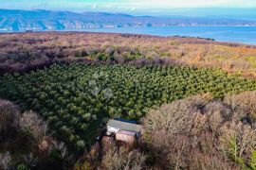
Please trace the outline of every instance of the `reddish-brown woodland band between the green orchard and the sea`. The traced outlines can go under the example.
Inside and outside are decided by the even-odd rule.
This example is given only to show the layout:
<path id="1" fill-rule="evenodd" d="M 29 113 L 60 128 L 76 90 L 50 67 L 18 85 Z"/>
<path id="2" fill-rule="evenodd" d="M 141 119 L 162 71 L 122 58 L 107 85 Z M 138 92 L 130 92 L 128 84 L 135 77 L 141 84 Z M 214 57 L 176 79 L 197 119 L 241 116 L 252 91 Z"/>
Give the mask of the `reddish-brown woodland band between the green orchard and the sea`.
<path id="1" fill-rule="evenodd" d="M 45 32 L 0 34 L 0 73 L 52 62 L 109 62 L 218 67 L 255 76 L 255 46 L 181 37 Z"/>

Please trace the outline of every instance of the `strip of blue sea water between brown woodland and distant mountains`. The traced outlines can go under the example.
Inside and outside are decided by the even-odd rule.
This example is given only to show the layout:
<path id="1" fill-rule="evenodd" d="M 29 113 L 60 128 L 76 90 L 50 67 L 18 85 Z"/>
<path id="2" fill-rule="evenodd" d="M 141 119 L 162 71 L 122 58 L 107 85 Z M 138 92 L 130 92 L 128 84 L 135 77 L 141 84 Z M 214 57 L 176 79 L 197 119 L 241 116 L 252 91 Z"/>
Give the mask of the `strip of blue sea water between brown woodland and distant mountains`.
<path id="1" fill-rule="evenodd" d="M 211 38 L 218 42 L 256 44 L 256 26 L 168 26 L 89 28 L 83 31 L 149 34 L 156 36 L 191 36 Z"/>

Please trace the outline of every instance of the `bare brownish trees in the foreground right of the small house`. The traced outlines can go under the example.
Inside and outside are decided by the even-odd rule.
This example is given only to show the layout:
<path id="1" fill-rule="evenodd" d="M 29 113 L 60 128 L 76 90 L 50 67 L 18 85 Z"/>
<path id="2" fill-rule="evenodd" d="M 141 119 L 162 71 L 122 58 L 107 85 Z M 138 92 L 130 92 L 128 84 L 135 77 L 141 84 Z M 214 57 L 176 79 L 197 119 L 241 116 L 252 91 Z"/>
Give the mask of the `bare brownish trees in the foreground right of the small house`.
<path id="1" fill-rule="evenodd" d="M 145 140 L 160 169 L 256 169 L 256 93 L 196 95 L 151 110 Z"/>

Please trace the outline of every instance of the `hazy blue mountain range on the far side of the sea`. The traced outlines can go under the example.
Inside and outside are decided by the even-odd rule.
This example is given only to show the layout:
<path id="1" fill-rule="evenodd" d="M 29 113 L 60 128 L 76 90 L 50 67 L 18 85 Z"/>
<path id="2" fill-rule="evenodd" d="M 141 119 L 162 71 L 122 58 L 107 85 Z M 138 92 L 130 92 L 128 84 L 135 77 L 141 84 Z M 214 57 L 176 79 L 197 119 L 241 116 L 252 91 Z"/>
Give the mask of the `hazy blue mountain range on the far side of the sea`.
<path id="1" fill-rule="evenodd" d="M 256 26 L 256 21 L 207 17 L 132 16 L 123 13 L 0 9 L 0 31 L 76 30 L 133 26 Z"/>

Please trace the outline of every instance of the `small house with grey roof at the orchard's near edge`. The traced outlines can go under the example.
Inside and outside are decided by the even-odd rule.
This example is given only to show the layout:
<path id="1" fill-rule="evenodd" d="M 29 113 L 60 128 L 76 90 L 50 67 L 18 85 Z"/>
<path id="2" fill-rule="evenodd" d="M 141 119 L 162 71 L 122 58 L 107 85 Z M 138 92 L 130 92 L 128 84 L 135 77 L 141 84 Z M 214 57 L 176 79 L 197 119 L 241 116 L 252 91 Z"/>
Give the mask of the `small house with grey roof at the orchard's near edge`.
<path id="1" fill-rule="evenodd" d="M 110 119 L 107 123 L 107 135 L 115 135 L 117 141 L 134 144 L 138 139 L 142 127 L 133 121 L 124 119 Z"/>

